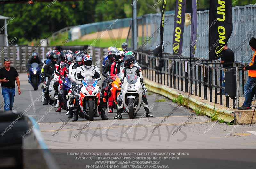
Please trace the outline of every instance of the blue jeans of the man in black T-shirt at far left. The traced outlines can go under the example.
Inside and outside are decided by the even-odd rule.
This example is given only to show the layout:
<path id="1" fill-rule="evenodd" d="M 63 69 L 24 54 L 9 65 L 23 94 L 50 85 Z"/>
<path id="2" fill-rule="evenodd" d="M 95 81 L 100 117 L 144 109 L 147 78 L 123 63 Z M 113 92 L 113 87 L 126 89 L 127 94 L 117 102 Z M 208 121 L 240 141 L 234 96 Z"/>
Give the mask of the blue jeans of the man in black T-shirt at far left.
<path id="1" fill-rule="evenodd" d="M 2 87 L 2 95 L 4 97 L 4 111 L 12 110 L 15 96 L 15 88 L 10 89 Z"/>

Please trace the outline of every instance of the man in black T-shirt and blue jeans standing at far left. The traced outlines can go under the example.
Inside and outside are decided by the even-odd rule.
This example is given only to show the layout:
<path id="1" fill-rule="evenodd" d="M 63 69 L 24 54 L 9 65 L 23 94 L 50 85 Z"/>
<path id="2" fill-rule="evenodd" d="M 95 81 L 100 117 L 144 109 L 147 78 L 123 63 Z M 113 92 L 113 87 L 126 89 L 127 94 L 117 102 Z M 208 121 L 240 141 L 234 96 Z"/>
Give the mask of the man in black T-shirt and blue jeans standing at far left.
<path id="1" fill-rule="evenodd" d="M 20 91 L 19 74 L 14 67 L 10 67 L 10 59 L 4 59 L 4 67 L 0 69 L 0 83 L 2 87 L 2 95 L 4 97 L 4 111 L 12 110 L 14 96 L 15 96 L 15 81 L 18 86 L 18 93 Z"/>

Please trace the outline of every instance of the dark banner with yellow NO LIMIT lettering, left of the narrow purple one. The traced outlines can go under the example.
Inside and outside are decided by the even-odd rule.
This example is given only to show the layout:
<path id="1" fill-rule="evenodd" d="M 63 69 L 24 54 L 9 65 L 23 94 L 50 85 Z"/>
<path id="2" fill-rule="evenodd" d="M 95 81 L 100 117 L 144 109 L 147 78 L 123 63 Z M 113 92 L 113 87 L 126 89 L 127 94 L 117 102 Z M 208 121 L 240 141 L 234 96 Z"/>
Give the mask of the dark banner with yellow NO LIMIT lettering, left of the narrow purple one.
<path id="1" fill-rule="evenodd" d="M 185 21 L 186 0 L 176 0 L 175 23 L 173 30 L 173 54 L 182 54 L 183 30 Z"/>

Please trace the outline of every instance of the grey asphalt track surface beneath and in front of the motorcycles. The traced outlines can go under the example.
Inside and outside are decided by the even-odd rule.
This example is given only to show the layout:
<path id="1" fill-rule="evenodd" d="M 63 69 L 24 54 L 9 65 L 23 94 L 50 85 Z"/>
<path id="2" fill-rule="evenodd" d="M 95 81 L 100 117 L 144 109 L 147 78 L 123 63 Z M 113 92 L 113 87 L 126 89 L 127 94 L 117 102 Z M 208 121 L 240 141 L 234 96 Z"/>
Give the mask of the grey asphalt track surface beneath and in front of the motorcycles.
<path id="1" fill-rule="evenodd" d="M 111 113 L 107 114 L 109 120 L 101 120 L 98 117 L 89 122 L 79 117 L 78 122 L 71 122 L 66 111 L 57 113 L 54 107 L 43 106 L 41 98 L 36 101 L 42 89 L 33 91 L 24 77 L 26 76 L 20 78 L 22 94 L 18 95 L 16 91 L 13 110 L 22 112 L 29 104 L 35 102 L 26 114 L 38 120 L 49 149 L 256 148 L 255 125 L 220 124 L 211 121 L 209 117 L 197 116 L 191 109 L 179 107 L 167 98 L 150 92 L 147 92 L 147 98 L 154 115 L 152 118 L 141 118 L 145 113 L 142 108 L 134 119 L 129 119 L 127 114 L 123 119 L 114 120 L 115 113 Z M 159 99 L 165 101 L 156 102 Z M 3 102 L 2 96 L 0 102 Z M 166 117 L 168 114 L 169 117 Z M 181 126 L 185 121 L 187 124 Z"/>

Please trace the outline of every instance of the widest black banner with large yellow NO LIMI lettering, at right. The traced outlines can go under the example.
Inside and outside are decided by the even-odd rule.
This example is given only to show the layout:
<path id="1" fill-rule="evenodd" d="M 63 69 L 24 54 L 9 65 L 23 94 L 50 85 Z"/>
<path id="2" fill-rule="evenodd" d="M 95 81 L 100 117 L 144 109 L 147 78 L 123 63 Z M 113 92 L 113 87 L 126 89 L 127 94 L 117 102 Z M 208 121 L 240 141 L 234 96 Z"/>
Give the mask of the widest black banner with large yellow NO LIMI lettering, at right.
<path id="1" fill-rule="evenodd" d="M 223 47 L 232 33 L 231 0 L 210 1 L 209 11 L 209 60 L 222 56 Z"/>

